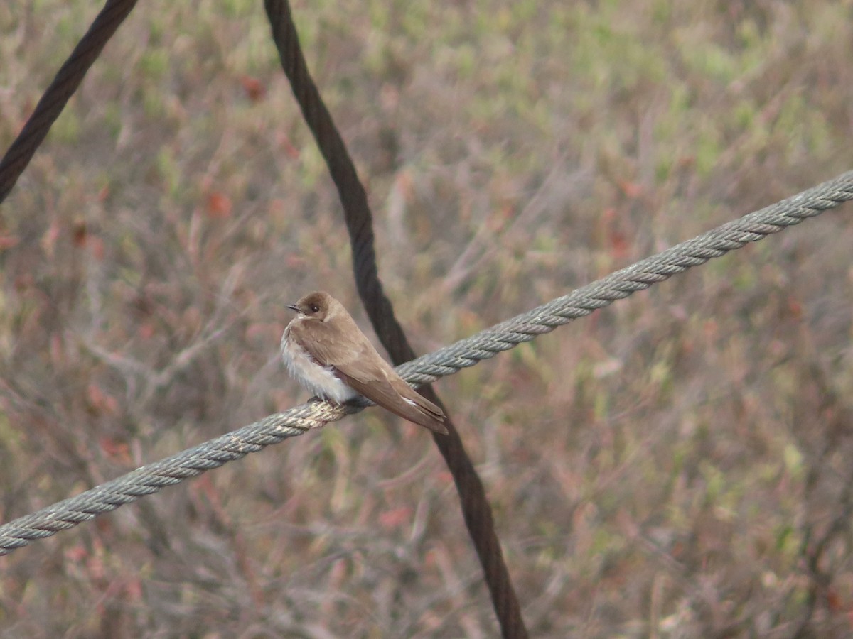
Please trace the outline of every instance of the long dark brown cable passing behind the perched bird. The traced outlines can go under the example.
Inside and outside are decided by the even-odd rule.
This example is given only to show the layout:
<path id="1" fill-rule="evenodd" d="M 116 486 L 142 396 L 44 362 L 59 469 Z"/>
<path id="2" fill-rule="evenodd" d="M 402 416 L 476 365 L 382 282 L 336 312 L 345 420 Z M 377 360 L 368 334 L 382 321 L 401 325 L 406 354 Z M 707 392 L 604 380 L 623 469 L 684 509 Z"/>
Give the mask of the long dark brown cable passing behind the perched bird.
<path id="1" fill-rule="evenodd" d="M 368 206 L 367 194 L 358 180 L 355 164 L 347 153 L 344 141 L 316 85 L 310 78 L 305 57 L 299 47 L 299 37 L 287 0 L 265 0 L 264 7 L 270 18 L 273 39 L 278 48 L 281 66 L 290 81 L 293 95 L 302 109 L 311 133 L 326 159 L 329 172 L 338 188 L 352 248 L 352 265 L 356 276 L 358 294 L 374 326 L 377 336 L 385 346 L 395 365 L 415 359 L 403 329 L 394 316 L 391 302 L 382 291 L 376 267 L 373 216 Z M 427 399 L 447 410 L 430 386 L 421 388 Z M 500 541 L 495 533 L 491 506 L 485 496 L 473 463 L 465 452 L 456 427 L 448 419 L 450 435 L 434 435 L 438 450 L 444 456 L 456 490 L 461 500 L 462 514 L 489 586 L 502 636 L 513 639 L 526 637 L 524 619 L 521 617 L 518 597 L 515 595 L 506 563 L 503 561 Z"/>

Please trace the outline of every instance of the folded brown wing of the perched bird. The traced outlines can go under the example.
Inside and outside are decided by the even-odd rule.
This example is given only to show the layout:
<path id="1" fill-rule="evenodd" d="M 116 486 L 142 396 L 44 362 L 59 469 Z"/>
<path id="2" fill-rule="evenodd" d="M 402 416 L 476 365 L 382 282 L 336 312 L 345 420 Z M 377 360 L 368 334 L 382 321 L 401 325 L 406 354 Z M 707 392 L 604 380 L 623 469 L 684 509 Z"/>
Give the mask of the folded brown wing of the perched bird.
<path id="1" fill-rule="evenodd" d="M 357 340 L 345 344 L 334 337 L 320 336 L 302 343 L 311 357 L 322 366 L 332 366 L 341 380 L 358 394 L 409 422 L 447 435 L 444 412 L 405 383 L 361 331 L 357 335 Z"/>

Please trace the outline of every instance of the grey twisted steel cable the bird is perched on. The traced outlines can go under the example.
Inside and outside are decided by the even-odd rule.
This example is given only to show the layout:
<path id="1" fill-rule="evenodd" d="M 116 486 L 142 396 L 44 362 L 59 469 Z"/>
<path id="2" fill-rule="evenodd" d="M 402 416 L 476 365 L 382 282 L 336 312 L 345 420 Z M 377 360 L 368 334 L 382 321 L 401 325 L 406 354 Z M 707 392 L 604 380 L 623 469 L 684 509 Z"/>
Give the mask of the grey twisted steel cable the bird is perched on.
<path id="1" fill-rule="evenodd" d="M 479 331 L 434 353 L 422 355 L 403 366 L 397 366 L 397 371 L 406 381 L 415 385 L 434 382 L 439 377 L 452 375 L 481 360 L 488 360 L 516 344 L 530 342 L 537 335 L 553 331 L 557 326 L 588 315 L 597 308 L 606 307 L 635 291 L 647 289 L 676 273 L 757 242 L 809 217 L 819 216 L 823 211 L 850 199 L 853 199 L 853 171 L 792 198 L 726 222 L 566 296 Z M 7 555 L 35 539 L 77 526 L 82 521 L 157 492 L 164 486 L 218 468 L 223 463 L 245 457 L 250 452 L 257 452 L 288 437 L 302 435 L 309 429 L 319 428 L 358 410 L 360 408 L 357 406 L 309 402 L 264 417 L 256 423 L 220 435 L 170 458 L 142 466 L 76 497 L 3 524 L 0 526 L 0 555 Z"/>

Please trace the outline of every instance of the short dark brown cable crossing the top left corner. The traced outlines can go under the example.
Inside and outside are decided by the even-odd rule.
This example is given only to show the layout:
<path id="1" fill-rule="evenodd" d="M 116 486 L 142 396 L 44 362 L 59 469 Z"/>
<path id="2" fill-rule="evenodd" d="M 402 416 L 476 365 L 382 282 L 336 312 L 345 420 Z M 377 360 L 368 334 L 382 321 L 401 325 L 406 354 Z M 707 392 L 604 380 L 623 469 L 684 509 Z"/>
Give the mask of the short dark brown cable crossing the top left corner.
<path id="1" fill-rule="evenodd" d="M 98 55 L 101 55 L 104 45 L 135 6 L 136 0 L 107 0 L 89 31 L 56 73 L 24 128 L 12 142 L 3 160 L 0 160 L 0 202 L 3 202 L 15 187 L 15 182 L 27 164 L 30 164 L 33 154 L 47 137 L 50 127 L 56 118 L 59 118 L 68 99 L 83 82 L 89 67 L 97 60 Z"/>

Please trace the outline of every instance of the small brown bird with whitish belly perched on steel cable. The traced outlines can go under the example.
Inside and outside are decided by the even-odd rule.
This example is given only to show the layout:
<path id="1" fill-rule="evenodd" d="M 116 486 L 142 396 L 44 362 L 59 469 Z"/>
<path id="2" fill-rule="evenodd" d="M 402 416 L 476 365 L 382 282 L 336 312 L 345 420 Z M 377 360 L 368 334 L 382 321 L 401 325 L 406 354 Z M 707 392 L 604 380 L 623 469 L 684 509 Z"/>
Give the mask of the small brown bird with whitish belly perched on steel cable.
<path id="1" fill-rule="evenodd" d="M 281 336 L 281 357 L 311 393 L 338 404 L 364 395 L 409 422 L 447 435 L 444 412 L 397 375 L 333 296 L 315 291 L 287 308 L 297 316 Z"/>

